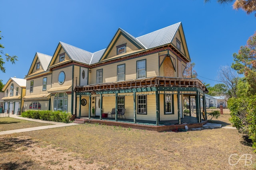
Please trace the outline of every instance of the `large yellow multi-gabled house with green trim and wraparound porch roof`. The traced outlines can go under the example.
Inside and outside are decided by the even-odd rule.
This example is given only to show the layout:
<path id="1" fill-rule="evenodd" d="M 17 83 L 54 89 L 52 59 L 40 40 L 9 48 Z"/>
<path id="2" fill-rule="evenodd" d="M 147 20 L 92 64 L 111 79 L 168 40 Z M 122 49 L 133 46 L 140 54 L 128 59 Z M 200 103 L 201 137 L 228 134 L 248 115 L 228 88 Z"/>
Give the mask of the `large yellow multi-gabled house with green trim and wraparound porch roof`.
<path id="1" fill-rule="evenodd" d="M 180 122 L 182 99 L 192 97 L 200 122 L 200 99 L 208 90 L 198 79 L 183 78 L 187 62 L 181 22 L 137 38 L 119 28 L 108 47 L 94 53 L 60 42 L 51 58 L 36 53 L 25 78 L 24 107 L 89 118 L 94 107 L 100 119 L 112 108 L 126 109 L 126 118 L 134 123 L 148 120 L 158 125 Z"/>

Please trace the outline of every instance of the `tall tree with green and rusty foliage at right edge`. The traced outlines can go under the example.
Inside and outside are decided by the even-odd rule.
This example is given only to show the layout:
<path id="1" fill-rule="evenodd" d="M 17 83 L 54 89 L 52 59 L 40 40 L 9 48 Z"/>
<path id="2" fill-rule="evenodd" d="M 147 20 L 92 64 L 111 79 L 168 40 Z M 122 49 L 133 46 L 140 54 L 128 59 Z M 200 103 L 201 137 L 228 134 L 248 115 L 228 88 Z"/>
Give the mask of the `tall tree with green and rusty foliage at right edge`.
<path id="1" fill-rule="evenodd" d="M 238 74 L 244 74 L 248 83 L 247 95 L 256 94 L 256 32 L 233 57 L 235 62 L 231 67 L 237 70 Z"/>

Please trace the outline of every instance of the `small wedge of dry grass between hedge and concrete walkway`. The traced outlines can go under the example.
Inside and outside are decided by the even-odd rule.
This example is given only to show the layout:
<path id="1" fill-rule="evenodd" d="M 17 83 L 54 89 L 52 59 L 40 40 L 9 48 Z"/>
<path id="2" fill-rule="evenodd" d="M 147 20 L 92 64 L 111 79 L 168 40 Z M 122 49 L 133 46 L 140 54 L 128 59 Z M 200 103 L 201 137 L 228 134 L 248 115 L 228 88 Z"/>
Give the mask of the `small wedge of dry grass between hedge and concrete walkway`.
<path id="1" fill-rule="evenodd" d="M 9 131 L 9 130 L 15 130 L 15 129 L 23 129 L 23 128 L 29 128 L 29 127 L 46 126 L 46 125 L 52 125 L 52 124 L 15 119 L 12 117 L 0 118 L 0 131 Z"/>

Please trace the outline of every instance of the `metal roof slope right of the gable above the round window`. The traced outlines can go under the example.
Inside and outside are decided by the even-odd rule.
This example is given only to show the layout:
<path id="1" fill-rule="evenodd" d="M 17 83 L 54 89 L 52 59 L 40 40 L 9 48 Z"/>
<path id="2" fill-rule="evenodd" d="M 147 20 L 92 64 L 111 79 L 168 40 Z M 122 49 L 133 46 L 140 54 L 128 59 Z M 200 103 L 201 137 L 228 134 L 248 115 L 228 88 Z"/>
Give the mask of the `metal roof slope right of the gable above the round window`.
<path id="1" fill-rule="evenodd" d="M 90 64 L 93 53 L 63 42 L 60 42 L 60 44 L 62 45 L 62 48 L 66 51 L 71 60 L 84 64 Z"/>

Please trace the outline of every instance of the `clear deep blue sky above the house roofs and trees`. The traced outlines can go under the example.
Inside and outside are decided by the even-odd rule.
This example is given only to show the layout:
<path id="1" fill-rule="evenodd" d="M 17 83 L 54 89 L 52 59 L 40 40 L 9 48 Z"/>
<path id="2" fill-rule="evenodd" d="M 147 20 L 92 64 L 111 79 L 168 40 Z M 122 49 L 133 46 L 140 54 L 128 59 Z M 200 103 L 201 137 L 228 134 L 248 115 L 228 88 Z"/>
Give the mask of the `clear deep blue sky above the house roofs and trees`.
<path id="1" fill-rule="evenodd" d="M 182 22 L 198 78 L 218 84 L 220 66 L 231 65 L 233 53 L 256 31 L 254 14 L 233 10 L 216 0 L 1 0 L 0 43 L 17 55 L 0 72 L 24 78 L 36 52 L 53 55 L 59 41 L 95 52 L 108 46 L 118 27 L 134 37 Z M 211 80 L 209 80 L 211 79 Z"/>

